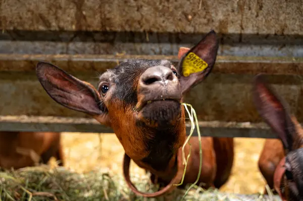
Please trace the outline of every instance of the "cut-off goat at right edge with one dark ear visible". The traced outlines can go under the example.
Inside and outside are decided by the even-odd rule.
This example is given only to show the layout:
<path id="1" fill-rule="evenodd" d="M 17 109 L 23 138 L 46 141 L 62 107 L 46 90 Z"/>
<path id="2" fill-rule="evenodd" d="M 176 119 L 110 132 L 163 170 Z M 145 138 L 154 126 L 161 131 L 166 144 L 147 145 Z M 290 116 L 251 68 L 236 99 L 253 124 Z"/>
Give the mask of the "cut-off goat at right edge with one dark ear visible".
<path id="1" fill-rule="evenodd" d="M 253 89 L 260 115 L 280 138 L 266 140 L 260 171 L 283 200 L 303 200 L 303 130 L 262 75 L 256 76 Z"/>

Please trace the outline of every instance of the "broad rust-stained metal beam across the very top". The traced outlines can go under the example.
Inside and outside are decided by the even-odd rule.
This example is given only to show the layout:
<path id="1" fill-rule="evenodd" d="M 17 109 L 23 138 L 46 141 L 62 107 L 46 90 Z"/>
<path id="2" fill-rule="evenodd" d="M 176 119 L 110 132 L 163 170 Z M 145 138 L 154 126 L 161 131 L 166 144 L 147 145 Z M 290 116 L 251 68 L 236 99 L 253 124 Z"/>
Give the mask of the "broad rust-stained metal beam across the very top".
<path id="1" fill-rule="evenodd" d="M 10 0 L 0 2 L 0 29 L 303 34 L 302 9 L 284 0 Z"/>

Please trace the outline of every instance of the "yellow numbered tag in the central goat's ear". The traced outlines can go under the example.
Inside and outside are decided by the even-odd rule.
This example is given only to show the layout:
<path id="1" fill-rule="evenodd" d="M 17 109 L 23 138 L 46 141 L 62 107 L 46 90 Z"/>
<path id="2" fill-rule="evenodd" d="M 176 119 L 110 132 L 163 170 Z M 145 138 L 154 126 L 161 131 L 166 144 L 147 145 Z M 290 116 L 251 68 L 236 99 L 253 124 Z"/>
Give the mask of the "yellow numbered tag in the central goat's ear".
<path id="1" fill-rule="evenodd" d="M 198 73 L 207 68 L 208 64 L 195 53 L 190 52 L 183 60 L 182 72 L 183 76 L 187 77 L 192 73 Z"/>

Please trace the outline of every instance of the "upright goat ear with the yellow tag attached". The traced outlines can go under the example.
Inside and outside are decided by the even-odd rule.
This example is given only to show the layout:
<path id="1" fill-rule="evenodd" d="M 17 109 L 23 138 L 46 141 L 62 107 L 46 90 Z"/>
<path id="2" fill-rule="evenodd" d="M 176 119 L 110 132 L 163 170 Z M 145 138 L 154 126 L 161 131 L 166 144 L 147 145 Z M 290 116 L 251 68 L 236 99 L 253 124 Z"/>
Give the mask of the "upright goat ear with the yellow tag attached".
<path id="1" fill-rule="evenodd" d="M 211 73 L 217 58 L 219 41 L 215 31 L 209 32 L 197 45 L 189 48 L 181 47 L 178 57 L 179 82 L 182 93 L 187 92 Z"/>

